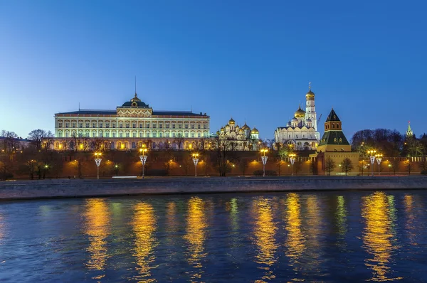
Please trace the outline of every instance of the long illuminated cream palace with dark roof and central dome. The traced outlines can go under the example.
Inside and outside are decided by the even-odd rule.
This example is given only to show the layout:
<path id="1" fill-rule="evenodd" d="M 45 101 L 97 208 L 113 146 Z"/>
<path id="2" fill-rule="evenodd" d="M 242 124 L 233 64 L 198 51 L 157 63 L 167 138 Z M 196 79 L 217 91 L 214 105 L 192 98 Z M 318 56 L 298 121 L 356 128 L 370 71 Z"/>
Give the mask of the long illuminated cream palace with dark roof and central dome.
<path id="1" fill-rule="evenodd" d="M 154 111 L 135 92 L 116 110 L 56 113 L 53 149 L 196 149 L 209 123 L 206 113 Z"/>

